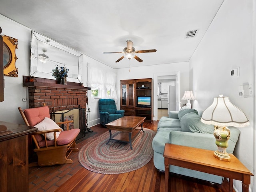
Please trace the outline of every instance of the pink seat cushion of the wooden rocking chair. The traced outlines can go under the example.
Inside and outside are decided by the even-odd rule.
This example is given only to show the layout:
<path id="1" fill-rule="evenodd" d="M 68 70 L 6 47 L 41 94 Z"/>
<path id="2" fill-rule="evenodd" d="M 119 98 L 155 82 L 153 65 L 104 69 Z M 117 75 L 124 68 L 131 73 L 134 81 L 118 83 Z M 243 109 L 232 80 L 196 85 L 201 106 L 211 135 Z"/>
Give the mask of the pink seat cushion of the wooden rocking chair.
<path id="1" fill-rule="evenodd" d="M 57 145 L 66 145 L 69 144 L 72 140 L 76 139 L 80 132 L 80 129 L 70 129 L 67 131 L 60 132 L 60 136 L 57 139 Z M 54 146 L 54 140 L 47 140 L 48 146 Z M 38 142 L 39 147 L 45 147 L 46 144 L 44 140 Z"/>

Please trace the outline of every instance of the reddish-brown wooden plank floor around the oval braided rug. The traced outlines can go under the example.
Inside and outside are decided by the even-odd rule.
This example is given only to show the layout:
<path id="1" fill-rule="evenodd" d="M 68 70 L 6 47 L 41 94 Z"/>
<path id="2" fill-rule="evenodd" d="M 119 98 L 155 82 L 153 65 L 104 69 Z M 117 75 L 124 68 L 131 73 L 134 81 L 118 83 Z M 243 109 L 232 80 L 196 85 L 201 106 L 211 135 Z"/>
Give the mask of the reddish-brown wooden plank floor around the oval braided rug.
<path id="1" fill-rule="evenodd" d="M 143 127 L 156 131 L 158 121 L 144 122 Z M 85 143 L 107 131 L 100 125 L 91 128 Z M 73 164 L 29 168 L 29 192 L 164 192 L 164 172 L 156 170 L 153 158 L 144 167 L 123 174 L 98 174 L 86 170 L 78 162 L 78 152 L 71 156 Z M 222 185 L 170 174 L 172 192 L 228 192 L 228 181 Z M 234 192 L 234 190 L 233 190 Z"/>

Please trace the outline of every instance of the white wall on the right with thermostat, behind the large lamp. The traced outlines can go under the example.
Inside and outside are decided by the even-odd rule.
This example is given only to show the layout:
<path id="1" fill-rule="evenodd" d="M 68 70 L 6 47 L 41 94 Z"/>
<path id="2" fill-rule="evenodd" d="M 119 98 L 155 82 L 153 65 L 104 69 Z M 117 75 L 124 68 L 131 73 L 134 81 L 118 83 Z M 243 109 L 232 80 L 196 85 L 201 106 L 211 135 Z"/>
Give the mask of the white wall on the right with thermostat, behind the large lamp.
<path id="1" fill-rule="evenodd" d="M 250 126 L 240 128 L 235 155 L 255 175 L 254 97 L 238 95 L 238 86 L 254 84 L 252 42 L 252 0 L 225 0 L 189 63 L 194 107 L 205 110 L 223 94 L 250 120 Z M 232 78 L 230 71 L 236 67 L 240 76 Z M 234 181 L 234 186 L 242 191 L 240 182 Z"/>

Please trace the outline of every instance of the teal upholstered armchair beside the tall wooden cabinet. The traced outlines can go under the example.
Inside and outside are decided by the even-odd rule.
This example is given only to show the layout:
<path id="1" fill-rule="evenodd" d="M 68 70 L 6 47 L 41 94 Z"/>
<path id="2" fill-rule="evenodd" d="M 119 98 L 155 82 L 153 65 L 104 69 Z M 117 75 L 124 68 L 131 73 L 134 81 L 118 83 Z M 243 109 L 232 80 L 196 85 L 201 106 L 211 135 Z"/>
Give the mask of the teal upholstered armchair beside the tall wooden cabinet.
<path id="1" fill-rule="evenodd" d="M 116 110 L 116 102 L 114 99 L 100 99 L 99 111 L 100 123 L 103 126 L 124 116 L 124 110 Z"/>

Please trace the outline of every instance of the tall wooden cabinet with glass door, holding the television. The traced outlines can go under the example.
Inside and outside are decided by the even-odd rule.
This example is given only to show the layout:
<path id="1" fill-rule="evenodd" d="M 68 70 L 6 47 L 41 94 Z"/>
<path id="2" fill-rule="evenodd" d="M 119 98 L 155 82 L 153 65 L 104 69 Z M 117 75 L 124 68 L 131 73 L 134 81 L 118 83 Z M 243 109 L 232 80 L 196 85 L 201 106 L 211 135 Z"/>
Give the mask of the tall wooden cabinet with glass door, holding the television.
<path id="1" fill-rule="evenodd" d="M 153 82 L 151 78 L 121 80 L 121 110 L 125 110 L 126 116 L 142 116 L 146 120 L 153 121 Z M 138 96 L 149 96 L 151 104 L 138 106 Z"/>

